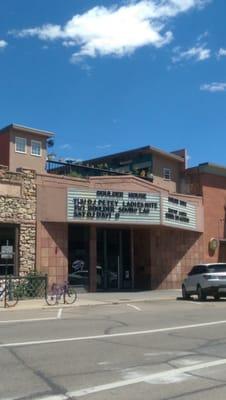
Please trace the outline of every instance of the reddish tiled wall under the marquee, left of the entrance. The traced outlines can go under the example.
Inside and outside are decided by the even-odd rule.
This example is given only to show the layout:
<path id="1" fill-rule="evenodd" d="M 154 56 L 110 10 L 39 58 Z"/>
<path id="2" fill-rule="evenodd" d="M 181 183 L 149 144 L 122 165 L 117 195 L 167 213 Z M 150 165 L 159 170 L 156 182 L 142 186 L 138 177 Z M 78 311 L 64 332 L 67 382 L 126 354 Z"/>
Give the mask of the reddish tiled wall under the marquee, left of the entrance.
<path id="1" fill-rule="evenodd" d="M 49 284 L 63 283 L 68 274 L 68 225 L 41 224 L 39 230 L 40 258 L 38 270 L 48 274 Z"/>

